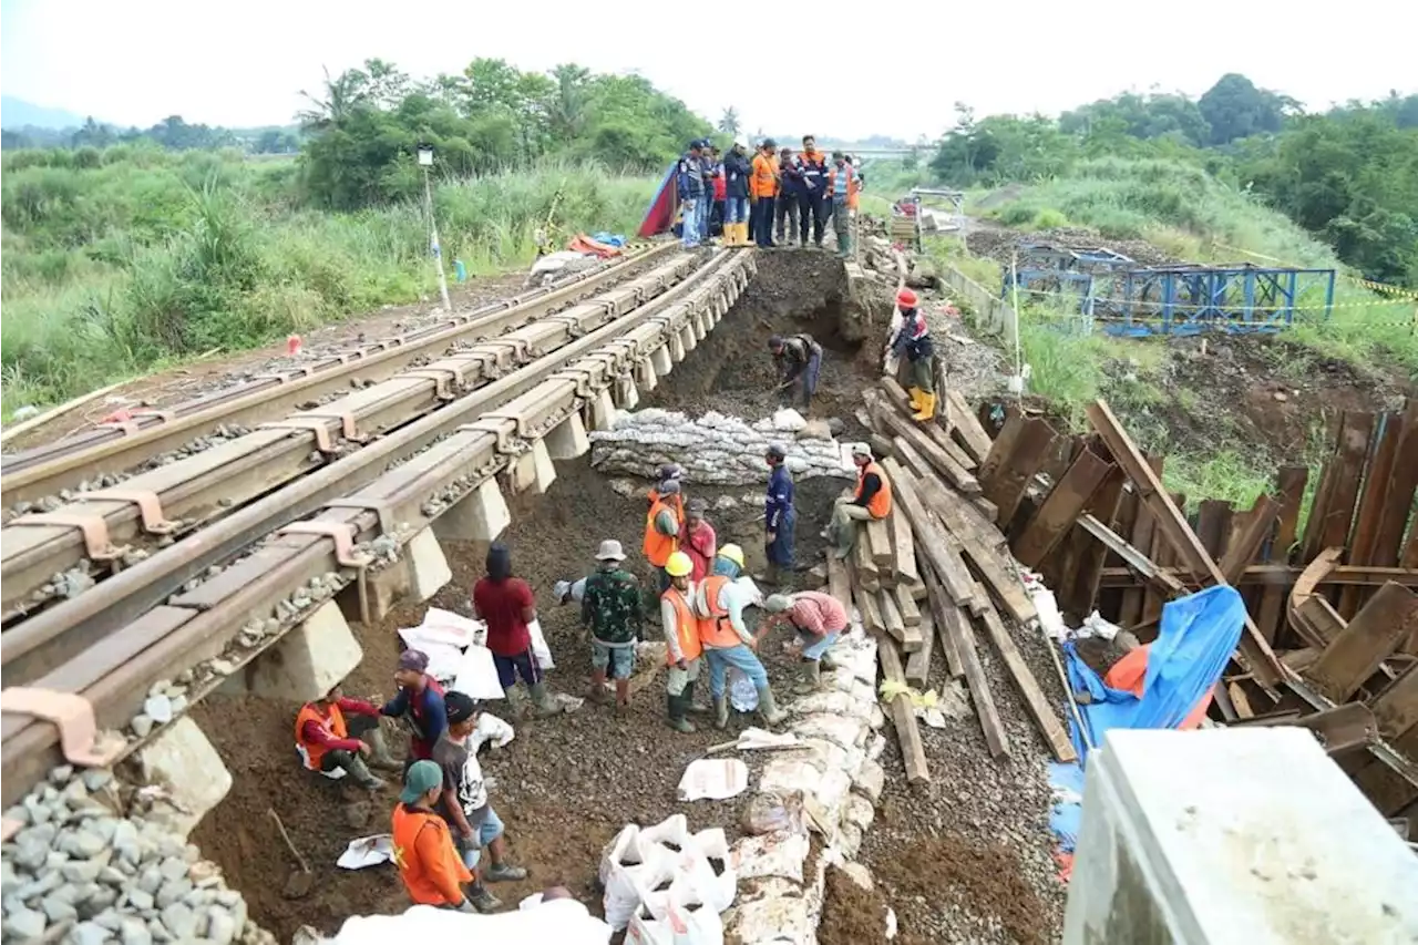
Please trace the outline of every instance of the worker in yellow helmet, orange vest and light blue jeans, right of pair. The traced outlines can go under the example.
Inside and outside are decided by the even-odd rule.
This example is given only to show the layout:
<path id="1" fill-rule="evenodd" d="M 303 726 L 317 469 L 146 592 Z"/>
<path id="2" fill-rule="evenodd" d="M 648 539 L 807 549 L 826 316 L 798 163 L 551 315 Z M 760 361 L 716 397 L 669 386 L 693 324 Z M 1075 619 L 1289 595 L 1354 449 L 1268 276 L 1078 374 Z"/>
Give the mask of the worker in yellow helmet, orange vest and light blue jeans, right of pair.
<path id="1" fill-rule="evenodd" d="M 713 559 L 713 573 L 695 587 L 695 616 L 699 640 L 709 663 L 709 695 L 713 698 L 715 728 L 729 725 L 729 667 L 735 667 L 759 691 L 759 711 L 767 725 L 778 725 L 788 715 L 778 709 L 769 685 L 769 673 L 754 653 L 759 641 L 743 623 L 743 609 L 750 592 L 735 583 L 743 572 L 743 549 L 725 545 Z"/>

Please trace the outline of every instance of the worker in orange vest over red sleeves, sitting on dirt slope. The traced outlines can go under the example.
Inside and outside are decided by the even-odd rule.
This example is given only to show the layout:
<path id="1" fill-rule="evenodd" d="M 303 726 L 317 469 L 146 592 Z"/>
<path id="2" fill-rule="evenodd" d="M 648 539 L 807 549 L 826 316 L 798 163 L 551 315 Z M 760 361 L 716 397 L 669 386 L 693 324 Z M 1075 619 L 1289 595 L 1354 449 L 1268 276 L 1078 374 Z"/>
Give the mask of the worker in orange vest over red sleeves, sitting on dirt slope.
<path id="1" fill-rule="evenodd" d="M 360 788 L 379 790 L 384 782 L 370 768 L 400 769 L 389 755 L 379 715 L 377 705 L 345 698 L 336 684 L 295 714 L 295 751 L 301 763 L 326 778 L 349 775 Z"/>

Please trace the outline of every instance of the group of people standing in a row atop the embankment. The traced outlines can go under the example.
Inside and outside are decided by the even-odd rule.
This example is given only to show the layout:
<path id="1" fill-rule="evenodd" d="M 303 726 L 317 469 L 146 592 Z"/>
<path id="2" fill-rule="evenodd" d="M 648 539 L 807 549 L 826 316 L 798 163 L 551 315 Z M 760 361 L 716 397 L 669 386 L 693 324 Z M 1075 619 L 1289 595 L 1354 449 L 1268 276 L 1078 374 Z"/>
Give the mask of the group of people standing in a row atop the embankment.
<path id="1" fill-rule="evenodd" d="M 811 135 L 797 153 L 764 139 L 752 158 L 740 142 L 720 158 L 709 139 L 696 139 L 676 167 L 681 237 L 685 248 L 695 248 L 718 226 L 725 245 L 805 247 L 811 238 L 821 247 L 831 220 L 837 254 L 847 258 L 861 189 L 862 175 L 849 156 L 838 150 L 828 158 Z"/>

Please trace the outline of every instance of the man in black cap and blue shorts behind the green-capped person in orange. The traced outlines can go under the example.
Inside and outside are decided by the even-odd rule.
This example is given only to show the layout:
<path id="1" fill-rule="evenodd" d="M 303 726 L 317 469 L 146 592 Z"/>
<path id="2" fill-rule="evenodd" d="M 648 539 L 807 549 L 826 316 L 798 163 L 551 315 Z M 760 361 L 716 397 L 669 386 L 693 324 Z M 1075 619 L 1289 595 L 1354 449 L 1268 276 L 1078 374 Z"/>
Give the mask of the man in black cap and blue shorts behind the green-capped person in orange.
<path id="1" fill-rule="evenodd" d="M 432 756 L 442 773 L 442 793 L 434 809 L 448 823 L 454 849 L 472 874 L 468 900 L 479 912 L 493 912 L 502 902 L 488 892 L 482 881 L 516 883 L 527 878 L 527 871 L 508 864 L 502 819 L 488 800 L 488 782 L 482 778 L 478 749 L 471 742 L 481 707 L 471 695 L 457 690 L 448 692 L 447 702 L 448 731 L 434 745 Z M 479 870 L 484 847 L 492 863 Z"/>

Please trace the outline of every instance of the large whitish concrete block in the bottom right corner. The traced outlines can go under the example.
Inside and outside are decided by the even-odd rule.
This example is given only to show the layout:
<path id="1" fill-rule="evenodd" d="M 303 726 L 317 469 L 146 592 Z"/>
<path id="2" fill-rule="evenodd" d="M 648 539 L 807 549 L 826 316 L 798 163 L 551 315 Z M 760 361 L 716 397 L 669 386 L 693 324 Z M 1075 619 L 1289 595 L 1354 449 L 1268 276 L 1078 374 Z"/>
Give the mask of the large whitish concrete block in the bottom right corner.
<path id="1" fill-rule="evenodd" d="M 1412 942 L 1415 888 L 1418 857 L 1310 732 L 1115 729 L 1064 942 Z"/>

